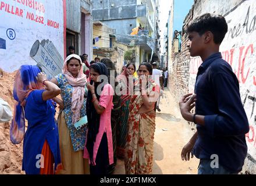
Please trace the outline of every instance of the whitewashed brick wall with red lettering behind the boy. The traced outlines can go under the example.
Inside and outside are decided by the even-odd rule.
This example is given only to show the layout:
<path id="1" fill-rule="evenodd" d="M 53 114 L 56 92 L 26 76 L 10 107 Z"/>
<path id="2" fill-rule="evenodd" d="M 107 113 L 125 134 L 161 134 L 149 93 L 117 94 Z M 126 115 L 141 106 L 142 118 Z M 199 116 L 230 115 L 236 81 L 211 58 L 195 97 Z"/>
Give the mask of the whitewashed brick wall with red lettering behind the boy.
<path id="1" fill-rule="evenodd" d="M 241 100 L 250 123 L 250 132 L 246 134 L 248 156 L 243 173 L 256 174 L 256 2 L 248 1 L 195 1 L 193 8 L 184 20 L 183 31 L 198 15 L 216 13 L 225 16 L 228 32 L 221 44 L 220 51 L 233 68 L 240 82 Z M 186 49 L 187 35 L 183 32 L 182 52 L 172 53 L 173 72 L 169 77 L 169 88 L 179 101 L 180 96 L 194 91 L 195 77 L 200 66 L 200 58 L 191 58 Z M 191 127 L 194 127 L 193 125 Z"/>

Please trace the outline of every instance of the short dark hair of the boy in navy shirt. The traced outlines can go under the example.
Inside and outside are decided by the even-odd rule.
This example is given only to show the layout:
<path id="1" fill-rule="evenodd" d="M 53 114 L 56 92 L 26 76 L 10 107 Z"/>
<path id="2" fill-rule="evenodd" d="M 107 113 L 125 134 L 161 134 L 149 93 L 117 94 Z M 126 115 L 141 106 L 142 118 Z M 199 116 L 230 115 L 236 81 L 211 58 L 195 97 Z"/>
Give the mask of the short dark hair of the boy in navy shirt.
<path id="1" fill-rule="evenodd" d="M 227 23 L 225 17 L 221 15 L 205 13 L 195 18 L 187 28 L 187 33 L 193 31 L 197 32 L 200 36 L 206 31 L 211 31 L 214 34 L 215 44 L 221 44 L 227 33 Z"/>

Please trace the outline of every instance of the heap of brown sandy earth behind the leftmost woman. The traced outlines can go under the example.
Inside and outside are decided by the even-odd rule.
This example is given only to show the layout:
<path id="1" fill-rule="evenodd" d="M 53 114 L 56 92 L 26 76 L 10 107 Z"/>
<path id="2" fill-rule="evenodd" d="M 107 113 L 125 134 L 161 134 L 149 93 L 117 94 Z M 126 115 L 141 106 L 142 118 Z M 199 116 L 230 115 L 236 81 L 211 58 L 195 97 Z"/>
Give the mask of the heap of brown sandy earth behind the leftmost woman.
<path id="1" fill-rule="evenodd" d="M 13 110 L 13 83 L 16 71 L 0 76 L 0 97 L 9 103 Z M 9 137 L 10 122 L 0 123 L 0 174 L 24 174 L 22 171 L 23 142 L 13 145 Z"/>

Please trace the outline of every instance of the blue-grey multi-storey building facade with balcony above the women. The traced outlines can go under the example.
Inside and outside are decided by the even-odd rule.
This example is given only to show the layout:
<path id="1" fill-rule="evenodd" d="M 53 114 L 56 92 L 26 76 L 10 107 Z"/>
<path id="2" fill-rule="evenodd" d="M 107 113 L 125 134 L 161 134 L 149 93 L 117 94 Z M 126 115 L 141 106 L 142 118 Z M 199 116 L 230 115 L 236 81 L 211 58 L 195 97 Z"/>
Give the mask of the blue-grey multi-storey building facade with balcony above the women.
<path id="1" fill-rule="evenodd" d="M 116 41 L 133 47 L 140 46 L 140 62 L 151 62 L 155 53 L 158 0 L 97 0 L 93 2 L 93 20 L 115 29 Z M 140 27 L 136 35 L 133 28 Z M 157 42 L 158 43 L 158 42 Z"/>

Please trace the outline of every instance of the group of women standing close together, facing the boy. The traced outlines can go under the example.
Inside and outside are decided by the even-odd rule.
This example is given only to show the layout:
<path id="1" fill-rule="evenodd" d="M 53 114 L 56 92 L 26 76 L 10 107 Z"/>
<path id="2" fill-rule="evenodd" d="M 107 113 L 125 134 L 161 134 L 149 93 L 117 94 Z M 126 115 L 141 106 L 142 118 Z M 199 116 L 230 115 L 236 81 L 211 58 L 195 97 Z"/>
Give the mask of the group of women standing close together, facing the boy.
<path id="1" fill-rule="evenodd" d="M 154 97 L 159 96 L 159 86 L 150 77 L 152 65 L 141 63 L 138 78 L 133 76 L 133 63 L 118 75 L 110 59 L 97 57 L 89 64 L 87 58 L 70 53 L 62 73 L 51 80 L 38 66 L 22 65 L 17 72 L 10 139 L 13 144 L 24 140 L 22 170 L 26 174 L 111 174 L 120 158 L 126 162 L 127 174 L 151 173 Z M 142 135 L 145 130 L 147 137 Z"/>

